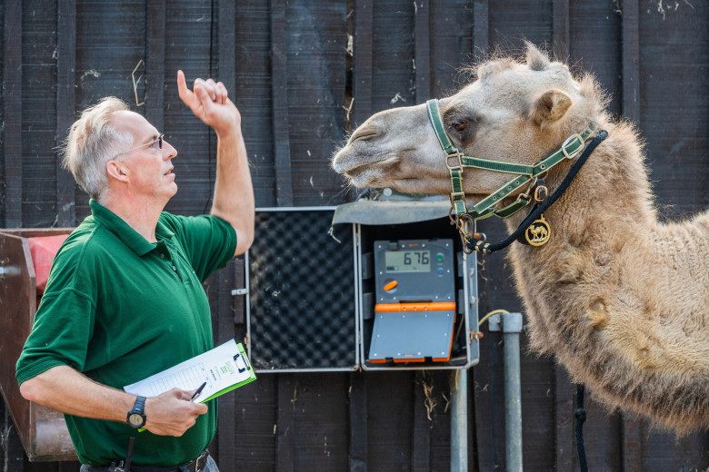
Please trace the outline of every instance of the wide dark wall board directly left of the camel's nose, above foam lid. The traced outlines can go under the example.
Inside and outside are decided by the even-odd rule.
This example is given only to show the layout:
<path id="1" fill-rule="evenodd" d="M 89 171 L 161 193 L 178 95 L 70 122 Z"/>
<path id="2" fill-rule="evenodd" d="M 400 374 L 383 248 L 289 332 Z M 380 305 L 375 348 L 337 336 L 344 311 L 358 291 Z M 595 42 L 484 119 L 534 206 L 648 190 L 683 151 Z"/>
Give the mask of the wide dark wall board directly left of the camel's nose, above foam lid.
<path id="1" fill-rule="evenodd" d="M 332 205 L 343 189 L 328 168 L 345 132 L 345 3 L 287 4 L 288 136 L 296 206 Z"/>

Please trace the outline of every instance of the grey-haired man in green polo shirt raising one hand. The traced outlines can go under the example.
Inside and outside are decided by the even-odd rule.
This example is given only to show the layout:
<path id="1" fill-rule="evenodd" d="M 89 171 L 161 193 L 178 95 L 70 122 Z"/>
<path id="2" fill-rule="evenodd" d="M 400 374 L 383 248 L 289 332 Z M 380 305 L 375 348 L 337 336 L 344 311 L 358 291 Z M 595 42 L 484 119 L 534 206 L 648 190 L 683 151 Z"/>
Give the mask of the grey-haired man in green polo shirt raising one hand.
<path id="1" fill-rule="evenodd" d="M 106 471 L 131 437 L 134 472 L 217 470 L 205 452 L 215 400 L 191 402 L 194 391 L 179 388 L 146 399 L 122 389 L 214 347 L 201 282 L 254 239 L 241 115 L 222 83 L 197 79 L 190 91 L 179 71 L 177 86 L 217 135 L 211 215 L 163 211 L 177 192 L 177 152 L 120 100 L 85 110 L 66 142 L 64 163 L 91 197 L 92 215 L 58 251 L 16 367 L 23 397 L 65 413 L 82 472 Z"/>

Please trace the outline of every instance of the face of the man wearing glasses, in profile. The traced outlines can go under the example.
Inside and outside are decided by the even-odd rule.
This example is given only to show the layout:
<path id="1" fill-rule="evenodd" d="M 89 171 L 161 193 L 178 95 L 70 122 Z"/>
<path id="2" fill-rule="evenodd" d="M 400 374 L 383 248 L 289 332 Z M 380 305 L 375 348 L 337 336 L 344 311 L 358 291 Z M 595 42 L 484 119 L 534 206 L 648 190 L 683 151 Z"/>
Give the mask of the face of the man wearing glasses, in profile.
<path id="1" fill-rule="evenodd" d="M 165 139 L 161 149 L 160 133 L 138 113 L 116 112 L 113 123 L 118 131 L 133 135 L 131 151 L 115 159 L 123 166 L 130 192 L 164 205 L 177 192 L 172 163 L 177 151 Z"/>

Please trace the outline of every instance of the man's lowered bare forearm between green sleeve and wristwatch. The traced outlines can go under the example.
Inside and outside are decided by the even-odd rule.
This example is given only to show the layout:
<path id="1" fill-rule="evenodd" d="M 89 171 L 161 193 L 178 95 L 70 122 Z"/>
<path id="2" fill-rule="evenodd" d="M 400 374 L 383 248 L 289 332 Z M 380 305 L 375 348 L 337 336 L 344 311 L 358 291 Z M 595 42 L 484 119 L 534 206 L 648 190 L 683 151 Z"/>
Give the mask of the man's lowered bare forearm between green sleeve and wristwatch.
<path id="1" fill-rule="evenodd" d="M 135 396 L 106 387 L 67 366 L 45 370 L 20 386 L 22 396 L 77 417 L 125 421 Z"/>

